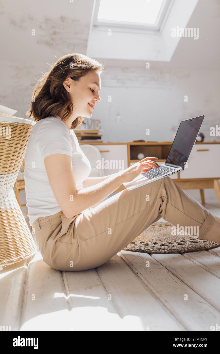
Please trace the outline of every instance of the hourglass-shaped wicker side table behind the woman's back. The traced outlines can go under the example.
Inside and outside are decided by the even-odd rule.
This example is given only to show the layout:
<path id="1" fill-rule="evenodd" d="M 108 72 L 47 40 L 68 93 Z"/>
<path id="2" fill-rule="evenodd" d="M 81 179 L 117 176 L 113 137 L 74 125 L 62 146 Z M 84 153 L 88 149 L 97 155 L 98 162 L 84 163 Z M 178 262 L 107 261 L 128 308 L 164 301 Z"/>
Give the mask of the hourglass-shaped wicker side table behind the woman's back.
<path id="1" fill-rule="evenodd" d="M 36 245 L 13 191 L 35 122 L 0 116 L 0 266 L 32 257 Z"/>

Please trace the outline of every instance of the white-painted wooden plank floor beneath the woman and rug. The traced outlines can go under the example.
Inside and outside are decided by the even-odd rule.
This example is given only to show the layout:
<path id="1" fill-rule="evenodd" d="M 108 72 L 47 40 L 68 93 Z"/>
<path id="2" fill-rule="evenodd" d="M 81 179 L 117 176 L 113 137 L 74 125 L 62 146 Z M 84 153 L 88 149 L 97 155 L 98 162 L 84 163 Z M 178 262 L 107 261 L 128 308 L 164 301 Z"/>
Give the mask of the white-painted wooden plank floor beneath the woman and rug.
<path id="1" fill-rule="evenodd" d="M 218 202 L 204 206 L 220 216 Z M 82 272 L 54 270 L 38 252 L 29 263 L 3 268 L 0 278 L 0 325 L 12 331 L 210 331 L 220 325 L 220 247 L 120 251 Z"/>

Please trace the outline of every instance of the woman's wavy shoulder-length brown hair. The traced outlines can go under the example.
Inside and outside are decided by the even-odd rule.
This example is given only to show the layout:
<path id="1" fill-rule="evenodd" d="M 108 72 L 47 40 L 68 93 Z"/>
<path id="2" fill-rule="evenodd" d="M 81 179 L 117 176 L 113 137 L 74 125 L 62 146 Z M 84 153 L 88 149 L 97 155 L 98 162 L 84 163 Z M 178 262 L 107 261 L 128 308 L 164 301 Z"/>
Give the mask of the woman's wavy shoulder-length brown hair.
<path id="1" fill-rule="evenodd" d="M 101 63 L 85 55 L 79 53 L 64 55 L 47 73 L 43 73 L 34 87 L 30 109 L 26 115 L 35 122 L 48 116 L 58 115 L 65 122 L 72 116 L 75 104 L 63 82 L 68 78 L 79 81 L 90 70 L 98 70 L 101 75 L 103 69 Z M 76 129 L 82 122 L 83 117 L 77 117 L 72 122 L 71 129 Z"/>

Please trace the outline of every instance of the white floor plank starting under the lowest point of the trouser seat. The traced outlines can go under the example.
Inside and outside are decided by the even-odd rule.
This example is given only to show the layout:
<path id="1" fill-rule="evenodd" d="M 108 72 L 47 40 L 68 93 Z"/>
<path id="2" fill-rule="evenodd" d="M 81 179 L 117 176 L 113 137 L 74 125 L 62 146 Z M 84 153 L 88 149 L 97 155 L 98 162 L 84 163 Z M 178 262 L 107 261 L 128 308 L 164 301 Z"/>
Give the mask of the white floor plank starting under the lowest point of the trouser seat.
<path id="1" fill-rule="evenodd" d="M 77 331 L 123 331 L 125 324 L 109 299 L 96 269 L 63 272 L 71 328 Z"/>

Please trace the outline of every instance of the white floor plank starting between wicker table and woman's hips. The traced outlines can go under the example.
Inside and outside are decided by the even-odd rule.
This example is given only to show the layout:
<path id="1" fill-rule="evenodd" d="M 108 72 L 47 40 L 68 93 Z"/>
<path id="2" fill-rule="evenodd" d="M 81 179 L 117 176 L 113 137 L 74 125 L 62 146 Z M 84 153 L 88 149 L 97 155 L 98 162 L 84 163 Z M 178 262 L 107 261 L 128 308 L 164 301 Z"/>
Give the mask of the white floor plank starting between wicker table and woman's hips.
<path id="1" fill-rule="evenodd" d="M 63 276 L 44 263 L 40 253 L 28 264 L 20 330 L 70 330 Z"/>

